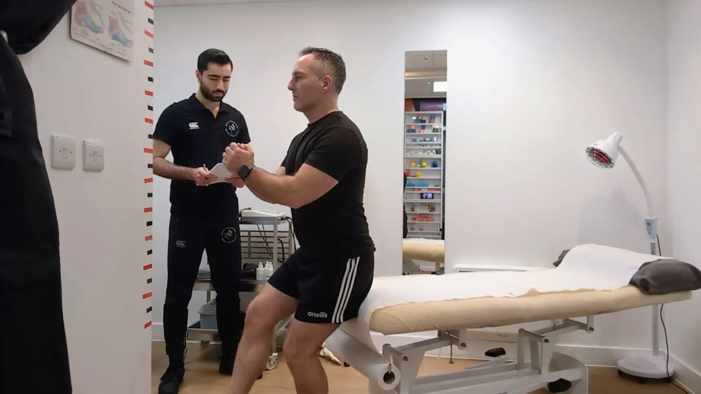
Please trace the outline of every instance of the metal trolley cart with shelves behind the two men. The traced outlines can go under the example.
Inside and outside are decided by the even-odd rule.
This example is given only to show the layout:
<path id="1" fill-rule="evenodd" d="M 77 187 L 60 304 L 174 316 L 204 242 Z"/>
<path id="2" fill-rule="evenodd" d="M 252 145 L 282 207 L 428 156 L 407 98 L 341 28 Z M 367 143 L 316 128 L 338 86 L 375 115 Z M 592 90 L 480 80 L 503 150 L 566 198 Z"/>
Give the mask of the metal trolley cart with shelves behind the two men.
<path id="1" fill-rule="evenodd" d="M 296 249 L 292 220 L 287 217 L 243 216 L 240 218 L 240 224 L 242 264 L 253 263 L 257 265 L 260 261 L 271 261 L 272 259 L 273 270 L 276 271 L 281 261 L 289 257 Z M 287 224 L 287 229 L 280 230 L 281 224 Z M 272 229 L 269 230 L 266 227 L 272 227 Z M 265 283 L 265 280 L 242 278 L 240 292 L 258 293 L 263 289 Z M 207 302 L 211 301 L 214 287 L 210 271 L 198 273 L 193 290 L 207 292 Z M 271 354 L 266 363 L 267 369 L 274 369 L 278 365 L 278 337 L 287 330 L 290 318 L 279 322 L 273 332 Z M 221 342 L 217 330 L 201 328 L 200 321 L 194 322 L 187 328 L 186 340 L 199 341 L 203 348 L 209 346 L 210 343 Z"/>

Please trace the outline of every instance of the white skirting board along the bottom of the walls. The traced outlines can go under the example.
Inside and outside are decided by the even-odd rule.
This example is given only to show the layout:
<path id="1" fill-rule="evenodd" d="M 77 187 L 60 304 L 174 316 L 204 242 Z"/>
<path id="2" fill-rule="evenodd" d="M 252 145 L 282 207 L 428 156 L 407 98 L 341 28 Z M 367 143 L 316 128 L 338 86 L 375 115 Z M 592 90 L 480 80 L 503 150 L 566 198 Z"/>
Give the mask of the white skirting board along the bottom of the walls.
<path id="1" fill-rule="evenodd" d="M 163 323 L 154 323 L 151 325 L 151 339 L 154 341 L 163 341 Z M 372 334 L 372 339 L 378 349 L 381 349 L 383 344 L 392 346 L 402 346 L 411 344 L 412 342 L 421 341 L 428 337 L 419 337 L 414 335 L 390 335 Z M 491 348 L 504 348 L 510 360 L 515 360 L 516 345 L 515 344 L 498 344 L 490 342 L 470 342 L 468 349 L 461 351 L 458 348 L 453 348 L 454 358 L 470 358 L 473 360 L 484 360 L 484 352 Z M 557 346 L 559 353 L 571 355 L 578 358 L 586 365 L 600 365 L 603 367 L 615 367 L 616 362 L 621 358 L 646 355 L 648 350 L 645 349 L 630 349 L 630 348 L 600 348 L 596 346 Z M 439 354 L 440 353 L 440 354 Z M 449 348 L 442 348 L 439 351 L 430 351 L 426 353 L 428 356 L 441 356 L 444 358 L 450 357 Z M 701 374 L 687 365 L 679 362 L 674 358 L 674 355 L 669 356 L 669 362 L 676 366 L 675 378 L 681 383 L 690 394 L 701 394 Z"/>

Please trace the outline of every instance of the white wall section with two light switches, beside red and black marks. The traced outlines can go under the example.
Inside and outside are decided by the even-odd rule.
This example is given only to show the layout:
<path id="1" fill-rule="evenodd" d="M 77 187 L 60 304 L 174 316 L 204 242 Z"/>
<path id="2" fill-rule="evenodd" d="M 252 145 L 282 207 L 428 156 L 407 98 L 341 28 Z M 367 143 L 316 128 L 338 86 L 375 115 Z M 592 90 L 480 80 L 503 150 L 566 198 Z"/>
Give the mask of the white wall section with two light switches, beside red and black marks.
<path id="1" fill-rule="evenodd" d="M 146 27 L 150 10 L 144 8 L 137 3 L 135 32 Z M 70 39 L 67 16 L 41 46 L 21 57 L 34 90 L 60 227 L 64 318 L 76 394 L 144 394 L 151 387 L 151 330 L 144 329 L 151 303 L 142 299 L 150 291 L 143 266 L 151 261 L 144 242 L 150 155 L 143 151 L 151 145 L 144 123 L 143 64 L 150 39 L 142 35 L 130 64 Z M 74 170 L 50 168 L 53 133 L 76 137 Z M 83 138 L 105 143 L 103 172 L 83 172 Z M 41 354 L 36 357 L 41 364 Z"/>

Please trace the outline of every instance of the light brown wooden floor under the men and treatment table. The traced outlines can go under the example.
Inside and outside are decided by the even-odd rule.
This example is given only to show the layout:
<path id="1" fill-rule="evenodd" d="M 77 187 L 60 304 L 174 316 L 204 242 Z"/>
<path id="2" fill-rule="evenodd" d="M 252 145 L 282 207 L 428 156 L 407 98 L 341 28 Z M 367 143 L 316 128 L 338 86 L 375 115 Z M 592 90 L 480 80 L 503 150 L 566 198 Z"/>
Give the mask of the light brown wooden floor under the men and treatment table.
<path id="1" fill-rule="evenodd" d="M 168 367 L 163 342 L 153 342 L 151 359 L 151 393 L 158 394 L 158 382 Z M 212 345 L 201 349 L 199 344 L 188 344 L 186 355 L 185 380 L 179 394 L 224 394 L 229 385 L 229 376 L 219 374 L 219 346 Z M 353 368 L 334 365 L 321 360 L 329 377 L 329 393 L 367 394 L 367 378 Z M 454 360 L 449 364 L 447 358 L 427 357 L 421 365 L 419 374 L 436 374 L 452 372 L 475 362 Z M 292 394 L 294 383 L 290 370 L 285 365 L 285 358 L 278 358 L 278 367 L 267 371 L 263 379 L 256 381 L 252 394 Z M 533 393 L 549 393 L 547 390 Z M 590 368 L 589 394 L 681 394 L 679 388 L 667 383 L 647 383 L 641 385 L 618 377 L 616 369 L 604 367 Z"/>

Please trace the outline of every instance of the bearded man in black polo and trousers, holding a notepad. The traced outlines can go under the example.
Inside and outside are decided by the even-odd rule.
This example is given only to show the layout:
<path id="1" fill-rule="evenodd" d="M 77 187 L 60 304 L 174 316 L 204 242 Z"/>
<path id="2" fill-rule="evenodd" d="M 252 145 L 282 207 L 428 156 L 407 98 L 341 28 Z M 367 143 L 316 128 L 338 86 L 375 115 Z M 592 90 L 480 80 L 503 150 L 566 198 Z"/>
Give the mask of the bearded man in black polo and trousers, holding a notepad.
<path id="1" fill-rule="evenodd" d="M 170 182 L 168 285 L 163 306 L 165 351 L 170 365 L 159 394 L 175 394 L 184 375 L 188 304 L 203 250 L 217 292 L 217 326 L 222 339 L 219 372 L 231 374 L 239 341 L 241 245 L 236 187 L 210 175 L 231 143 L 248 144 L 243 115 L 222 102 L 229 90 L 231 60 L 205 50 L 197 61 L 200 88 L 163 110 L 154 131 L 154 174 Z M 173 163 L 165 160 L 172 151 Z"/>

